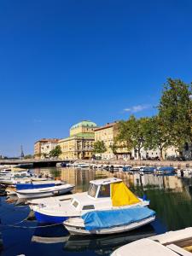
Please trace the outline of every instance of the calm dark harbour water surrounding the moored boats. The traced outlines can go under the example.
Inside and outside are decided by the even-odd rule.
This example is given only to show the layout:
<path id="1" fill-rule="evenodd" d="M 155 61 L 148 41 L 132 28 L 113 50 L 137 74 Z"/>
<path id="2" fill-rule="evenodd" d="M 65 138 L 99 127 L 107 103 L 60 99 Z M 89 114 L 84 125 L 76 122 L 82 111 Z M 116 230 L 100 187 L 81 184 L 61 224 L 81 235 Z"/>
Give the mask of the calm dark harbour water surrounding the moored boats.
<path id="1" fill-rule="evenodd" d="M 115 236 L 73 237 L 63 226 L 39 227 L 35 220 L 19 223 L 29 214 L 27 206 L 15 206 L 0 197 L 0 232 L 3 236 L 3 251 L 0 255 L 109 255 L 127 242 L 154 236 L 167 230 L 192 226 L 192 179 L 177 176 L 155 177 L 154 175 L 114 174 L 105 171 L 42 168 L 35 172 L 61 177 L 75 184 L 74 192 L 86 191 L 89 181 L 96 178 L 120 177 L 140 196 L 147 195 L 150 207 L 157 213 L 152 225 Z M 12 225 L 13 226 L 10 226 Z M 22 228 L 20 228 L 22 227 Z"/>

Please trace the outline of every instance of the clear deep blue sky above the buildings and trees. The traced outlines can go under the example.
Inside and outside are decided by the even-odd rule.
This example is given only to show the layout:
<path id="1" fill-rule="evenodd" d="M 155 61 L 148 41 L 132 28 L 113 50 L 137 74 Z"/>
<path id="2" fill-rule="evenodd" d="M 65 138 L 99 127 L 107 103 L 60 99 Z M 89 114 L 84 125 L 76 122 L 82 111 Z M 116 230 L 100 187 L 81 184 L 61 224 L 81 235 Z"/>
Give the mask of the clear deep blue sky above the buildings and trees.
<path id="1" fill-rule="evenodd" d="M 168 77 L 192 81 L 190 0 L 1 0 L 0 154 L 152 115 Z"/>

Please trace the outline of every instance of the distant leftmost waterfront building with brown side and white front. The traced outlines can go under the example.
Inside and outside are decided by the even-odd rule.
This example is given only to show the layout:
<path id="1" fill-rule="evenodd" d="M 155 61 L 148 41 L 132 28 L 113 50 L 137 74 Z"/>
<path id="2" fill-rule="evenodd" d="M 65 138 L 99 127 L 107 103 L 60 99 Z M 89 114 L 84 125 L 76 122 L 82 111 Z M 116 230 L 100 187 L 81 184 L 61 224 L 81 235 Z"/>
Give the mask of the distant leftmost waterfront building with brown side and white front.
<path id="1" fill-rule="evenodd" d="M 58 144 L 58 138 L 43 138 L 34 143 L 34 156 L 36 159 L 44 159 L 49 157 L 52 149 Z"/>

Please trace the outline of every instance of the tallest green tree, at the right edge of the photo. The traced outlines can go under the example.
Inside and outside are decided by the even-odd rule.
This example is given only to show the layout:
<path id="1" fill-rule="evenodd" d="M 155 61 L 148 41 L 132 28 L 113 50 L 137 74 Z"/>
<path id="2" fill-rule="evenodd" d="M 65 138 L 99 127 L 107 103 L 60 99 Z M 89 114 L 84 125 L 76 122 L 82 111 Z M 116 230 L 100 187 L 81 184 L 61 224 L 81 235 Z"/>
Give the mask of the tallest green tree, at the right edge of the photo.
<path id="1" fill-rule="evenodd" d="M 182 148 L 192 142 L 191 84 L 180 79 L 167 79 L 160 98 L 159 116 L 162 133 L 172 140 L 172 145 Z"/>

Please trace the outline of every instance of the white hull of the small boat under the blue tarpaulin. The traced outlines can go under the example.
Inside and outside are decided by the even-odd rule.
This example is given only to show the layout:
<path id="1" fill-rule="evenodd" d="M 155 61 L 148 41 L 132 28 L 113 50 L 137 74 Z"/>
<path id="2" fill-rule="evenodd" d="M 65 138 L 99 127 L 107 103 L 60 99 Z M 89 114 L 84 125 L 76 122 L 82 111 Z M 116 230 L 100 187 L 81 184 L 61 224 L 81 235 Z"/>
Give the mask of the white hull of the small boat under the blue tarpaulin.
<path id="1" fill-rule="evenodd" d="M 84 229 L 84 224 L 78 224 L 78 219 L 79 218 L 70 218 L 67 219 L 63 224 L 66 227 L 66 229 L 69 231 L 71 235 L 110 235 L 110 234 L 115 234 L 115 233 L 122 233 L 122 232 L 127 232 L 130 230 L 135 230 L 143 225 L 149 224 L 152 221 L 154 221 L 155 216 L 150 217 L 150 218 L 145 218 L 139 222 L 123 225 L 123 226 L 116 226 L 116 227 L 111 227 L 108 229 L 101 229 L 101 230 L 85 230 Z M 77 220 L 77 222 L 76 222 Z"/>

